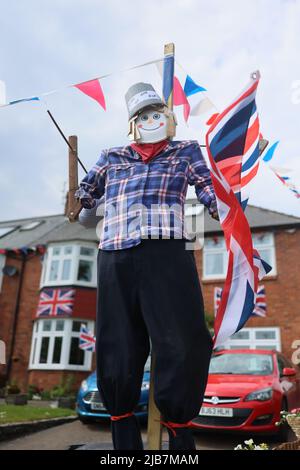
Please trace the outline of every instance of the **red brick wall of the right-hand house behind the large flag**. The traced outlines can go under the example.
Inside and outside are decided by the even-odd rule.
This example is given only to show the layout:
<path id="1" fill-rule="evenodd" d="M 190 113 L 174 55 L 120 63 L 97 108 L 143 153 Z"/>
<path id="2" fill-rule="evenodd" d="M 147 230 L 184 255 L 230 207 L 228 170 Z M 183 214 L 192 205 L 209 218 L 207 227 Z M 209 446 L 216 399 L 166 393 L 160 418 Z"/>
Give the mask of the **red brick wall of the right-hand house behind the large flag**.
<path id="1" fill-rule="evenodd" d="M 251 318 L 247 327 L 280 327 L 282 352 L 291 358 L 291 344 L 300 339 L 300 230 L 275 232 L 277 275 L 261 281 L 266 289 L 267 316 Z M 202 250 L 195 251 L 197 269 L 201 279 L 205 310 L 214 314 L 214 287 L 223 287 L 220 281 L 202 281 Z"/>

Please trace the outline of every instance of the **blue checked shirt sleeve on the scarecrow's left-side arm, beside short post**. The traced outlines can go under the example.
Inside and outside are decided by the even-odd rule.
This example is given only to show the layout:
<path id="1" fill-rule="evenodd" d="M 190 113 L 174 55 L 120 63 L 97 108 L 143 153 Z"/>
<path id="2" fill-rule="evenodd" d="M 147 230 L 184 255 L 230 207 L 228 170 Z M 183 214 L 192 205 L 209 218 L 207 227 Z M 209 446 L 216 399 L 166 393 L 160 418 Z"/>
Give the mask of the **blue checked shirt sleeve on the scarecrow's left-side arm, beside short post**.
<path id="1" fill-rule="evenodd" d="M 108 151 L 103 150 L 97 163 L 81 180 L 79 188 L 75 192 L 75 197 L 80 199 L 84 208 L 92 209 L 96 205 L 95 199 L 100 199 L 103 196 L 107 167 Z"/>

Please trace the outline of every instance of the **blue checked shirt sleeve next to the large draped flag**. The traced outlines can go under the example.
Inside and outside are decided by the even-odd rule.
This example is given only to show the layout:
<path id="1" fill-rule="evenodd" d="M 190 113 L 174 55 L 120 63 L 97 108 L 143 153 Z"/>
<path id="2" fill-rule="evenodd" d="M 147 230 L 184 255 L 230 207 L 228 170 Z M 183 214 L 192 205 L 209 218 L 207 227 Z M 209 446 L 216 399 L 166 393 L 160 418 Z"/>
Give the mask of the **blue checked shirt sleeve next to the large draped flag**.
<path id="1" fill-rule="evenodd" d="M 204 204 L 210 214 L 217 211 L 217 200 L 212 185 L 210 171 L 197 141 L 192 143 L 188 183 L 195 186 L 197 199 Z"/>

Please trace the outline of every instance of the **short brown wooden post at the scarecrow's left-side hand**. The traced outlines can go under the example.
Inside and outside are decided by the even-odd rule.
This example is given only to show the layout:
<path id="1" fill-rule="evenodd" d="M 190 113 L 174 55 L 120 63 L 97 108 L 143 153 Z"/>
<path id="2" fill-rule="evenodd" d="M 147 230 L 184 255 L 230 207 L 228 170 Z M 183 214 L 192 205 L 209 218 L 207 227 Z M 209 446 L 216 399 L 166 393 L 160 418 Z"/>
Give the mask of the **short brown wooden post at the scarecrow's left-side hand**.
<path id="1" fill-rule="evenodd" d="M 80 201 L 78 201 L 74 194 L 78 188 L 78 160 L 77 160 L 77 136 L 71 135 L 69 137 L 69 191 L 68 191 L 68 208 L 67 215 L 70 222 L 76 222 L 78 214 L 82 209 Z"/>

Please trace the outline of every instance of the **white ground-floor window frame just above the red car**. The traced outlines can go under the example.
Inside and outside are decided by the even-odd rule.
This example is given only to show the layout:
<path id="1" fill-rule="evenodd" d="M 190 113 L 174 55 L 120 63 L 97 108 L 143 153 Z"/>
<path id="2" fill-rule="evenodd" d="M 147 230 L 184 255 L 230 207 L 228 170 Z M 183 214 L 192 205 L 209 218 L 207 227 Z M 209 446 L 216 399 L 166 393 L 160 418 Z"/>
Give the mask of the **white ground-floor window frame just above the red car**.
<path id="1" fill-rule="evenodd" d="M 257 332 L 268 332 L 272 331 L 275 333 L 274 339 L 257 339 L 256 333 Z M 277 351 L 281 352 L 281 334 L 280 328 L 275 327 L 249 327 L 249 328 L 242 328 L 238 333 L 248 333 L 248 339 L 242 338 L 234 338 L 234 335 L 228 339 L 220 348 L 225 349 L 276 349 Z M 237 334 L 238 334 L 237 333 Z"/>

